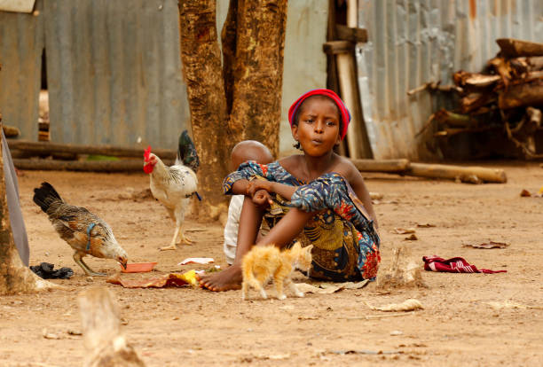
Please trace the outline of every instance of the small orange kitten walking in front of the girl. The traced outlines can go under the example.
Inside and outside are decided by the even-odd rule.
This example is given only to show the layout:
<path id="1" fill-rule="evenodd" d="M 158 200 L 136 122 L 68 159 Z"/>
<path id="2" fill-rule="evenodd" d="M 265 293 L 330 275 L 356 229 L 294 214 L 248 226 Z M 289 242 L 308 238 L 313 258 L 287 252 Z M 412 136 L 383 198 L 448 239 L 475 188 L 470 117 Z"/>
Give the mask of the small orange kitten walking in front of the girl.
<path id="1" fill-rule="evenodd" d="M 262 298 L 266 299 L 264 285 L 273 277 L 273 283 L 277 289 L 277 298 L 287 298 L 283 293 L 283 284 L 288 285 L 298 297 L 303 293 L 298 291 L 290 278 L 294 269 L 308 271 L 311 267 L 311 248 L 313 245 L 302 248 L 300 242 L 284 251 L 279 251 L 276 246 L 253 246 L 243 257 L 243 284 L 241 295 L 243 300 L 248 299 L 249 286 L 260 291 Z"/>

